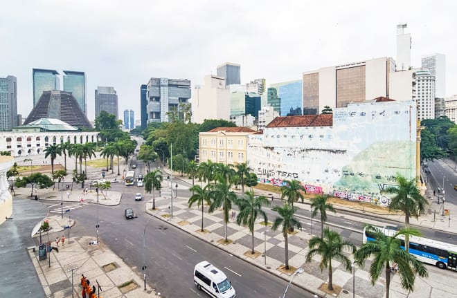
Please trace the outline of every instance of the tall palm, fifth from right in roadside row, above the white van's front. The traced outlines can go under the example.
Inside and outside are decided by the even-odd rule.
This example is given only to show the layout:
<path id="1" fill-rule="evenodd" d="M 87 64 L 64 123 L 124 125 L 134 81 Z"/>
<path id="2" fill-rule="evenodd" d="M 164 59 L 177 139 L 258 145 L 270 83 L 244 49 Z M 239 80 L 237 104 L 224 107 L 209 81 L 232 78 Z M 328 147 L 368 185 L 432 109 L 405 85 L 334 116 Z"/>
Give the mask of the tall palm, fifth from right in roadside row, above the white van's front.
<path id="1" fill-rule="evenodd" d="M 235 192 L 231 190 L 232 184 L 224 176 L 219 176 L 217 183 L 213 185 L 211 189 L 211 198 L 213 202 L 208 209 L 208 212 L 212 213 L 215 209 L 222 207 L 224 212 L 224 226 L 225 226 L 225 242 L 227 239 L 227 223 L 228 223 L 228 212 L 232 208 L 232 203 L 235 203 L 237 196 Z"/>

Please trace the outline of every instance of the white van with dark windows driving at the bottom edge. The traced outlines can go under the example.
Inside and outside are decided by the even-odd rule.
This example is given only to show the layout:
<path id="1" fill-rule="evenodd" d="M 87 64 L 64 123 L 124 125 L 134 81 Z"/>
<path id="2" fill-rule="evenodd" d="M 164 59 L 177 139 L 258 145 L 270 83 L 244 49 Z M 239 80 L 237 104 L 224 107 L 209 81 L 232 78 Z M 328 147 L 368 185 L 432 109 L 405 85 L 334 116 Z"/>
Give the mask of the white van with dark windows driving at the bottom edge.
<path id="1" fill-rule="evenodd" d="M 194 283 L 199 290 L 204 290 L 211 297 L 235 298 L 236 293 L 230 281 L 221 270 L 201 261 L 194 268 Z"/>

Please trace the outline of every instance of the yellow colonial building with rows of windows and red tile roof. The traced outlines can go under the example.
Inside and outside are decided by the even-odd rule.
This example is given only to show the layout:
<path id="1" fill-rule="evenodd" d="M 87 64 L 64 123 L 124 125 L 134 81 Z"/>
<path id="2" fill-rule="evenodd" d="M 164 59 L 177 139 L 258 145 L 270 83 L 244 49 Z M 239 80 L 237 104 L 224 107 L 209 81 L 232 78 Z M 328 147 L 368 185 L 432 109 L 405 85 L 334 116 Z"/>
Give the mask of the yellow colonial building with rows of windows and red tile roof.
<path id="1" fill-rule="evenodd" d="M 247 127 L 217 127 L 199 133 L 200 162 L 211 160 L 224 165 L 247 162 L 248 136 L 256 132 Z"/>

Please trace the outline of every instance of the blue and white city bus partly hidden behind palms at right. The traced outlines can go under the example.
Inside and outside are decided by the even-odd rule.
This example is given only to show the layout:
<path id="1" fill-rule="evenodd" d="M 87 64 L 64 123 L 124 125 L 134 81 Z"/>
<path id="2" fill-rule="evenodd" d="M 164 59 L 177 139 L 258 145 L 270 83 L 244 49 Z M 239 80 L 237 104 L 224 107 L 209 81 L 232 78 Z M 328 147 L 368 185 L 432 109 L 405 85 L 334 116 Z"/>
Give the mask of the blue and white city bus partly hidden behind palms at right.
<path id="1" fill-rule="evenodd" d="M 364 227 L 363 243 L 374 241 L 373 233 Z M 389 227 L 377 227 L 386 236 L 393 236 L 397 231 Z M 404 250 L 404 235 L 398 236 L 402 241 Z M 418 236 L 409 236 L 409 254 L 412 254 L 418 261 L 431 264 L 441 269 L 457 271 L 457 245 L 427 239 Z"/>

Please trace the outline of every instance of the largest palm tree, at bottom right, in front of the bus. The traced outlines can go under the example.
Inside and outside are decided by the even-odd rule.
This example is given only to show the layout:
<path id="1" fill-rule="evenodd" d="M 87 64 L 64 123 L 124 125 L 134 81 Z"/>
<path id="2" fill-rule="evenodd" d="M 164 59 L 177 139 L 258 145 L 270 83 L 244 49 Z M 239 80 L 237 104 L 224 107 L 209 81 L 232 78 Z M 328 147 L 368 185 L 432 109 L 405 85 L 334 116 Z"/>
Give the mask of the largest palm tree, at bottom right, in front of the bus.
<path id="1" fill-rule="evenodd" d="M 418 230 L 405 228 L 398 230 L 393 236 L 386 236 L 379 228 L 368 225 L 366 231 L 371 234 L 375 241 L 361 245 L 361 248 L 355 252 L 355 260 L 363 266 L 368 257 L 374 256 L 368 273 L 371 277 L 371 283 L 374 285 L 384 269 L 386 274 L 386 298 L 389 297 L 391 265 L 393 263 L 397 263 L 398 272 L 400 273 L 400 285 L 404 290 L 414 290 L 415 274 L 419 274 L 420 277 L 429 276 L 427 268 L 418 259 L 415 259 L 412 254 L 403 250 L 401 246 L 400 236 L 420 236 Z"/>

